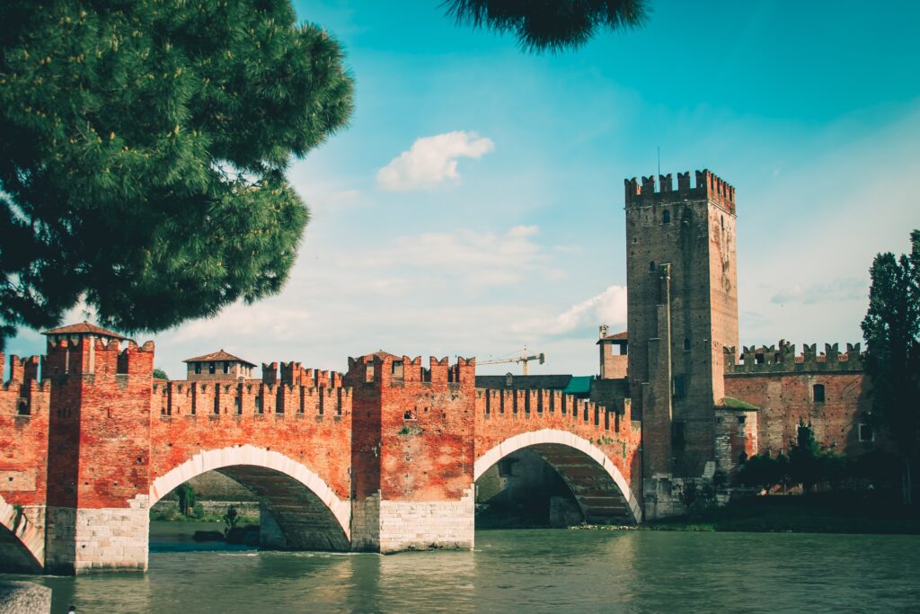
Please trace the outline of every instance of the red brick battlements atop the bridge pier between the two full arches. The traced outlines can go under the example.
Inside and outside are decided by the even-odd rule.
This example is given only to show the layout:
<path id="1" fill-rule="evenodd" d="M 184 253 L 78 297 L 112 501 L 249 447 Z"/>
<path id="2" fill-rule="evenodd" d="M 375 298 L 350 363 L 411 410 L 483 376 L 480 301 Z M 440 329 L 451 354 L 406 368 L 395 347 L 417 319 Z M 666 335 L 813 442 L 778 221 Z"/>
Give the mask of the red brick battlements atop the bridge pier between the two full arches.
<path id="1" fill-rule="evenodd" d="M 447 356 L 429 357 L 426 369 L 421 356 L 409 358 L 383 351 L 348 359 L 349 370 L 345 381 L 349 386 L 375 383 L 383 386 L 427 383 L 433 385 L 476 385 L 476 358 L 457 357 L 451 365 Z"/>

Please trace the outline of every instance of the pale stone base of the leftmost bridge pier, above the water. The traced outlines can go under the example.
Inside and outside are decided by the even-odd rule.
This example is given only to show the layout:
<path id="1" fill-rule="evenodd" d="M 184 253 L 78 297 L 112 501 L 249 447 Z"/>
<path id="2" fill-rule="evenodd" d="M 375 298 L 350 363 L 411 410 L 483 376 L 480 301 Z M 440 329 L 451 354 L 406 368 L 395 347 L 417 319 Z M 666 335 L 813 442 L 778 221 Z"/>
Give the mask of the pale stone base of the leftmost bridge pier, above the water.
<path id="1" fill-rule="evenodd" d="M 150 528 L 147 498 L 138 495 L 127 508 L 49 507 L 47 571 L 145 571 Z"/>

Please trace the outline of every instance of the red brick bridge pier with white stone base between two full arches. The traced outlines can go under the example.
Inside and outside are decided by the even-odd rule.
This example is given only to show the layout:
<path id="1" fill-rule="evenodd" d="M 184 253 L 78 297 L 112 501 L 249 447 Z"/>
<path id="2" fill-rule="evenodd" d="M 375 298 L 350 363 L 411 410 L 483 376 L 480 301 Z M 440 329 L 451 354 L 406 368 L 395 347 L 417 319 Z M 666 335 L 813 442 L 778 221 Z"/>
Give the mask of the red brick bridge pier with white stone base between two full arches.
<path id="1" fill-rule="evenodd" d="M 355 548 L 472 547 L 475 363 L 376 353 L 350 359 L 345 381 Z"/>

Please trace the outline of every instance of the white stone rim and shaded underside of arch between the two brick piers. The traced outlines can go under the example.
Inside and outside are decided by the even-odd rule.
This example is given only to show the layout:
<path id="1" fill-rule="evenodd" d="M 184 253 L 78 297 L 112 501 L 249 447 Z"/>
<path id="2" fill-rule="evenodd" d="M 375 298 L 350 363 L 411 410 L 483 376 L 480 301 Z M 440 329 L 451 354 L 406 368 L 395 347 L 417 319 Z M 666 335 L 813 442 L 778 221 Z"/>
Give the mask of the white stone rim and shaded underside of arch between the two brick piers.
<path id="1" fill-rule="evenodd" d="M 256 446 L 228 446 L 196 454 L 156 478 L 150 505 L 201 473 L 218 471 L 259 495 L 281 535 L 262 544 L 282 550 L 351 550 L 351 501 L 302 463 Z M 262 521 L 266 531 L 266 520 Z"/>

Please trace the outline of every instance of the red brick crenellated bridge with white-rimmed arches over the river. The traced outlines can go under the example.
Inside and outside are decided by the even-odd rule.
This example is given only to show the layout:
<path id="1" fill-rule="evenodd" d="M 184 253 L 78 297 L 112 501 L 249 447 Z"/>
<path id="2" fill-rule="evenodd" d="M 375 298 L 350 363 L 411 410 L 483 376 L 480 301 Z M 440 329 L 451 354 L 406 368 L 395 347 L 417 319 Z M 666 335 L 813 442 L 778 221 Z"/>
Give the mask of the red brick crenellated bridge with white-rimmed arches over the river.
<path id="1" fill-rule="evenodd" d="M 152 378 L 152 342 L 111 335 L 49 335 L 41 359 L 10 357 L 0 567 L 144 570 L 150 506 L 211 470 L 259 494 L 267 548 L 471 548 L 475 482 L 522 448 L 589 521 L 639 519 L 628 400 L 477 389 L 475 359 L 383 352 L 344 375 L 288 363 L 260 380 L 166 382 Z"/>

